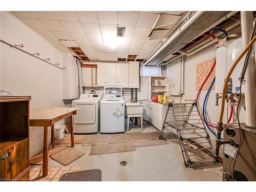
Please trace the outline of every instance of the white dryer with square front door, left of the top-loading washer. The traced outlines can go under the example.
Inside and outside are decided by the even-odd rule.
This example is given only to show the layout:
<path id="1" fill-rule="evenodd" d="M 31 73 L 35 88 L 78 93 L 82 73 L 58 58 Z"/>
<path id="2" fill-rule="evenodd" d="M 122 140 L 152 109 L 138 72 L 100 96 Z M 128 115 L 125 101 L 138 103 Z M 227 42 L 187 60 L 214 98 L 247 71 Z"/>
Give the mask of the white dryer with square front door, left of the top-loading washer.
<path id="1" fill-rule="evenodd" d="M 74 133 L 97 133 L 100 126 L 100 96 L 81 94 L 72 101 L 73 108 L 79 108 L 73 115 Z"/>

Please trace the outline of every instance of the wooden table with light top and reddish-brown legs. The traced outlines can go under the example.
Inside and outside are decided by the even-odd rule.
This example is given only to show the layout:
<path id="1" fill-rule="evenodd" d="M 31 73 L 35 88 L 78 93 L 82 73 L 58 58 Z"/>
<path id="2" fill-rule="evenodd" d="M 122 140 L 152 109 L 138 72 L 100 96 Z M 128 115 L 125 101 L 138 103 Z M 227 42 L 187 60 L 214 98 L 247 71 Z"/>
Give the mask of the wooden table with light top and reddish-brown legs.
<path id="1" fill-rule="evenodd" d="M 63 108 L 53 107 L 37 109 L 30 112 L 30 126 L 44 126 L 44 152 L 43 152 L 43 165 L 42 176 L 48 175 L 48 126 L 51 126 L 51 142 L 54 146 L 54 123 L 70 117 L 70 131 L 71 131 L 71 147 L 75 146 L 74 143 L 74 130 L 73 130 L 73 115 L 76 115 L 78 108 Z"/>

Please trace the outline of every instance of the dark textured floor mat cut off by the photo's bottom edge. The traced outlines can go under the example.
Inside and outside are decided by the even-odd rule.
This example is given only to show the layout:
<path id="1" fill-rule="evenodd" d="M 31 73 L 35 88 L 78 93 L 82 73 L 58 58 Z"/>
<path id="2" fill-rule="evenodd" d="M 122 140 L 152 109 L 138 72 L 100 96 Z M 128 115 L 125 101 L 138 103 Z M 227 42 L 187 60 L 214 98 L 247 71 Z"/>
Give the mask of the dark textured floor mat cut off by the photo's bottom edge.
<path id="1" fill-rule="evenodd" d="M 63 174 L 59 181 L 101 181 L 100 169 L 80 170 L 79 172 Z"/>

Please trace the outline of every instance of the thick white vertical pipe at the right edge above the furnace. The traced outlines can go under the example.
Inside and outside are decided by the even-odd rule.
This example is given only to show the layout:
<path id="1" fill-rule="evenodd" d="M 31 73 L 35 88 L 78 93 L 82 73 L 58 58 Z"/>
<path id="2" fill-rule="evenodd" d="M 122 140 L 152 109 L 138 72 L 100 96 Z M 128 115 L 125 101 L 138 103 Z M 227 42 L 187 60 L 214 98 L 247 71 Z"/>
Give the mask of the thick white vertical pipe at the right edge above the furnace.
<path id="1" fill-rule="evenodd" d="M 244 48 L 250 41 L 253 29 L 252 11 L 241 11 L 241 30 Z M 253 58 L 253 55 L 252 55 Z M 255 102 L 255 66 L 253 59 L 250 59 L 245 74 L 245 122 L 246 126 L 256 127 L 256 102 Z"/>

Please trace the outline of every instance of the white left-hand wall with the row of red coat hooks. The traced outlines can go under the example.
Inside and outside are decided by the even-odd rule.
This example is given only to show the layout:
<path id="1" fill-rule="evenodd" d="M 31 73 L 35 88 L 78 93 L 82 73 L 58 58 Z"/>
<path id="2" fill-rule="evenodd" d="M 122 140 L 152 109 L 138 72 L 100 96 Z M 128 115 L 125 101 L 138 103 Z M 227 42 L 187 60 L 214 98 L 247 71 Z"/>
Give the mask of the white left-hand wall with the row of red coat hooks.
<path id="1" fill-rule="evenodd" d="M 6 36 L 8 33 L 6 33 L 4 30 L 9 30 L 9 27 L 3 26 L 3 23 L 12 23 L 12 28 L 16 30 L 16 33 L 19 33 L 18 35 L 20 36 L 20 41 L 23 40 L 23 37 L 31 37 L 31 43 L 37 40 L 43 41 L 46 52 L 49 52 L 49 46 L 51 49 L 55 49 L 49 44 L 49 42 L 37 35 L 30 28 L 25 25 L 20 25 L 21 23 L 19 20 L 7 12 L 1 12 L 1 39 L 12 39 L 12 36 Z M 24 33 L 20 34 L 20 31 Z M 3 34 L 5 34 L 5 37 Z M 37 45 L 33 44 L 33 46 Z M 0 43 L 0 49 L 0 88 L 2 90 L 7 90 L 14 96 L 30 95 L 32 97 L 30 102 L 30 110 L 50 106 L 65 106 L 62 101 L 61 69 L 15 48 L 10 48 L 10 46 L 7 46 L 2 42 Z M 62 58 L 61 52 L 56 50 L 56 54 L 59 54 L 58 57 Z M 42 127 L 30 127 L 30 157 L 42 150 L 44 139 L 43 130 L 44 129 Z"/>

